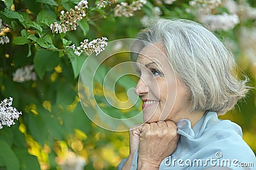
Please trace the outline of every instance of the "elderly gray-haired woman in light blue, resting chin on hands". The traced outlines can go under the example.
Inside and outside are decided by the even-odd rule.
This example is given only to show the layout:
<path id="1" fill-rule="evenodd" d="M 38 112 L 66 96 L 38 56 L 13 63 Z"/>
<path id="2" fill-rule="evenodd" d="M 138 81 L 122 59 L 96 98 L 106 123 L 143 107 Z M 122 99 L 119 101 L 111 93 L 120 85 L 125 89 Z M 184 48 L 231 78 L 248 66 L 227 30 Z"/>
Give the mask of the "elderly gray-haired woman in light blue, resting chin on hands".
<path id="1" fill-rule="evenodd" d="M 248 91 L 233 56 L 205 27 L 157 20 L 132 44 L 143 125 L 118 169 L 256 169 L 239 125 L 218 120 Z"/>

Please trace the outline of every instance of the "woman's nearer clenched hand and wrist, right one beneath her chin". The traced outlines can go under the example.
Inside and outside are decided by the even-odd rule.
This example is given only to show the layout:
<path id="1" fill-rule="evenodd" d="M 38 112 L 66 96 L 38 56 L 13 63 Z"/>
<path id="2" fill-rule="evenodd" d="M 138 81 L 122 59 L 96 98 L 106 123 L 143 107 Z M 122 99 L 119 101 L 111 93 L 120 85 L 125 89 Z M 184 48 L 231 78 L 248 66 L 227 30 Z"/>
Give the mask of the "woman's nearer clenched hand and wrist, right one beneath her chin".
<path id="1" fill-rule="evenodd" d="M 173 121 L 145 123 L 139 127 L 138 169 L 159 169 L 164 158 L 175 151 L 179 135 Z"/>

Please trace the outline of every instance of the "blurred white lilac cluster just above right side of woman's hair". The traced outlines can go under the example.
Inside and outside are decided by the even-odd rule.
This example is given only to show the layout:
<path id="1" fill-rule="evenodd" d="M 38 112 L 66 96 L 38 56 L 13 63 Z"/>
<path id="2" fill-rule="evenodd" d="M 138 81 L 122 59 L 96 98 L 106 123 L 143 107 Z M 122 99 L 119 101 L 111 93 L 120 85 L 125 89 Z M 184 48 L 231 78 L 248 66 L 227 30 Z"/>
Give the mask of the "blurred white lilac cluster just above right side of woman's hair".
<path id="1" fill-rule="evenodd" d="M 227 31 L 239 24 L 240 20 L 236 14 L 223 13 L 222 15 L 205 15 L 200 19 L 200 22 L 209 26 L 211 31 Z"/>

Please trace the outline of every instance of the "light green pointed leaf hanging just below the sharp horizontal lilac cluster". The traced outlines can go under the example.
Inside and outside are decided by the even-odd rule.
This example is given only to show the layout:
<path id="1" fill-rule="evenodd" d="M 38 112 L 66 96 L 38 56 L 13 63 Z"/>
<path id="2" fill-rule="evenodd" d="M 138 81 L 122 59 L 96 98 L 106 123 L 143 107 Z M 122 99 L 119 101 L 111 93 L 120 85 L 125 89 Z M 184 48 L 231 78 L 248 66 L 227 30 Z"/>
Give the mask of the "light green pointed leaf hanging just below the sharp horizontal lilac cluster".
<path id="1" fill-rule="evenodd" d="M 68 58 L 70 58 L 71 60 L 74 78 L 76 78 L 81 71 L 81 68 L 83 66 L 84 60 L 86 59 L 86 56 L 85 54 L 81 54 L 81 56 L 78 57 L 76 56 L 76 54 L 74 54 L 74 51 L 72 50 L 68 51 L 67 55 L 68 55 Z"/>

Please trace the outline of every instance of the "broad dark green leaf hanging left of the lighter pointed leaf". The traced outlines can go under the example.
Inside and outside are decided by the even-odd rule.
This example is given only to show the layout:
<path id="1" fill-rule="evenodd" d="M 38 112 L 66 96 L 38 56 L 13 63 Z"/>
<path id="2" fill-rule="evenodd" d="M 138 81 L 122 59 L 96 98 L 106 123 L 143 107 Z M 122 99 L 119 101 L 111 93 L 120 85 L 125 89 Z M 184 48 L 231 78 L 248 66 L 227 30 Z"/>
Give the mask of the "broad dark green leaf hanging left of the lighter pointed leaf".
<path id="1" fill-rule="evenodd" d="M 58 52 L 39 49 L 35 52 L 34 66 L 40 79 L 43 79 L 46 71 L 51 71 L 60 63 Z"/>

